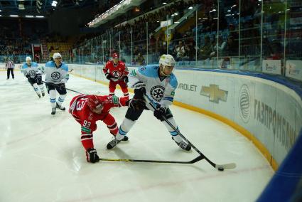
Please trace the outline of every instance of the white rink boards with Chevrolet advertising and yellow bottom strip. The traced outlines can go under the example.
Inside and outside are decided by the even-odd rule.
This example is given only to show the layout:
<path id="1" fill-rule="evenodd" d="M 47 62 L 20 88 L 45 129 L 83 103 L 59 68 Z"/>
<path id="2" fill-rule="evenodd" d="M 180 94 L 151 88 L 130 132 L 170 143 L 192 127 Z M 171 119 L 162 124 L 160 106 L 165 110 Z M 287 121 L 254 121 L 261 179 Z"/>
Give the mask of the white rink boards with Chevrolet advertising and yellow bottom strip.
<path id="1" fill-rule="evenodd" d="M 69 64 L 72 74 L 107 84 L 102 65 Z M 131 68 L 129 68 L 131 70 Z M 231 125 L 252 140 L 274 169 L 302 127 L 301 97 L 290 87 L 249 75 L 176 70 L 175 104 Z"/>

